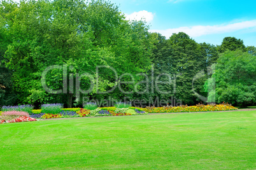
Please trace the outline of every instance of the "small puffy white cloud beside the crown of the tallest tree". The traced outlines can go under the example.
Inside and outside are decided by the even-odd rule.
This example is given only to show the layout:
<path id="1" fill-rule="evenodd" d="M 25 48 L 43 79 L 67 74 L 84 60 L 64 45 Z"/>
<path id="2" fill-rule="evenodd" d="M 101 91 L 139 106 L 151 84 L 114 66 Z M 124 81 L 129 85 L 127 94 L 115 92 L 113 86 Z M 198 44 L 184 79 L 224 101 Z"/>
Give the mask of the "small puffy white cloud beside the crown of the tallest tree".
<path id="1" fill-rule="evenodd" d="M 125 17 L 127 20 L 145 20 L 146 22 L 152 21 L 154 15 L 155 13 L 148 12 L 145 10 L 134 12 L 129 15 L 125 13 Z"/>

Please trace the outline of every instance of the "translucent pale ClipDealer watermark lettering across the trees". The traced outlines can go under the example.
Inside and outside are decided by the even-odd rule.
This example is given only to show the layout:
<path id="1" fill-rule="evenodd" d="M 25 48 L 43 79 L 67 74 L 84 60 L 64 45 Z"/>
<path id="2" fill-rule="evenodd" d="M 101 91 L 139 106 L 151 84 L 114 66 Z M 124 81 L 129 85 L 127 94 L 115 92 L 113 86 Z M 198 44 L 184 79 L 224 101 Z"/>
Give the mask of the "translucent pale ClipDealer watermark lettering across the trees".
<path id="1" fill-rule="evenodd" d="M 48 73 L 50 73 L 50 71 L 53 71 L 56 69 L 62 72 L 62 88 L 58 90 L 53 90 L 53 88 L 50 88 L 52 86 L 48 87 L 46 82 L 47 80 L 46 76 Z M 115 75 L 114 76 L 115 82 L 109 83 L 110 84 L 109 87 L 111 87 L 111 89 L 103 90 L 101 88 L 102 81 L 104 80 L 102 80 L 102 77 L 99 76 L 100 69 L 108 69 L 108 73 L 112 72 L 113 75 Z M 76 102 L 79 102 L 80 99 L 82 98 L 81 94 L 110 94 L 117 88 L 122 94 L 133 94 L 133 93 L 153 94 L 155 92 L 157 92 L 158 94 L 175 94 L 176 78 L 181 75 L 181 74 L 161 73 L 155 76 L 153 66 L 151 68 L 150 77 L 148 76 L 148 74 L 145 74 L 145 73 L 138 73 L 135 75 L 131 73 L 124 73 L 118 76 L 117 71 L 110 66 L 97 66 L 96 72 L 93 72 L 92 74 L 90 73 L 78 74 L 78 73 L 73 73 L 71 70 L 73 70 L 73 66 L 69 66 L 69 69 L 68 69 L 68 66 L 66 65 L 63 65 L 63 66 L 55 65 L 55 66 L 46 67 L 46 69 L 43 71 L 43 74 L 41 76 L 41 84 L 43 86 L 43 89 L 45 89 L 46 92 L 50 94 L 74 94 L 76 97 Z M 212 72 L 211 67 L 208 67 L 208 74 L 211 74 L 211 72 Z M 143 77 L 141 78 L 142 81 L 136 81 L 136 80 L 139 80 L 138 79 L 139 76 Z M 192 80 L 192 91 L 197 97 L 199 97 L 199 99 L 207 103 L 208 102 L 207 97 L 199 95 L 196 92 L 196 90 L 194 90 L 194 81 L 203 76 L 205 76 L 203 71 L 200 71 L 194 76 Z M 124 78 L 127 78 L 127 77 L 129 77 L 131 81 L 124 81 Z M 87 80 L 90 80 L 90 83 L 87 82 L 87 87 L 89 87 L 87 90 L 84 90 L 81 87 L 83 78 L 87 78 Z M 164 78 L 164 80 L 166 81 L 162 81 L 161 78 Z M 125 84 L 133 85 L 132 90 L 126 91 L 124 88 L 122 88 L 122 85 L 125 85 Z M 171 88 L 165 91 L 161 90 L 159 87 L 159 85 L 161 84 L 162 85 L 168 84 L 171 86 Z M 141 85 L 144 85 L 143 87 L 145 87 L 143 91 L 139 90 L 139 87 L 141 87 Z M 130 99 L 129 101 L 128 99 L 129 97 L 124 97 L 123 101 L 125 103 L 132 104 L 132 106 L 145 106 L 146 104 L 146 101 L 144 99 L 143 100 Z M 114 102 L 118 102 L 118 101 L 115 101 L 115 99 L 111 99 L 111 97 L 109 99 L 104 99 L 101 101 L 97 101 L 97 100 L 90 101 L 88 97 L 83 97 L 83 103 L 93 102 L 93 101 L 100 106 L 113 106 Z M 159 97 L 157 97 L 156 99 L 152 99 L 152 97 L 150 97 L 149 103 L 151 103 L 153 106 L 166 106 L 166 105 L 178 106 L 178 105 L 181 105 L 181 100 L 177 100 L 173 97 L 171 97 L 171 99 L 169 100 L 160 100 Z"/>

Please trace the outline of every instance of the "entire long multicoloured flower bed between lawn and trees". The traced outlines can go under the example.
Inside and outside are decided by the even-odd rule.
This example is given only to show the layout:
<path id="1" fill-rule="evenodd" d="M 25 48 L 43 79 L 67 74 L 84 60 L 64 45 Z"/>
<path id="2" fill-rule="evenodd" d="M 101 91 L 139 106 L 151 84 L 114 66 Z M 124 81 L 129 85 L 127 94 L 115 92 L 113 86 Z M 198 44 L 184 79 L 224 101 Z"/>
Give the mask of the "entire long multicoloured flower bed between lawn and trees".
<path id="1" fill-rule="evenodd" d="M 62 104 L 44 104 L 43 110 L 32 110 L 31 113 L 24 111 L 3 111 L 0 112 L 0 123 L 3 122 L 27 122 L 35 121 L 36 118 L 68 118 L 68 117 L 102 117 L 102 116 L 126 116 L 126 115 L 146 115 L 148 113 L 174 113 L 174 112 L 195 112 L 195 111 L 226 111 L 238 110 L 230 104 L 197 104 L 196 106 L 166 106 L 166 107 L 147 107 L 137 108 L 125 106 L 125 108 L 105 107 L 88 110 L 83 108 L 62 108 Z M 4 106 L 5 109 L 13 110 L 17 108 L 29 108 L 29 106 Z M 45 113 L 41 113 L 45 111 Z"/>

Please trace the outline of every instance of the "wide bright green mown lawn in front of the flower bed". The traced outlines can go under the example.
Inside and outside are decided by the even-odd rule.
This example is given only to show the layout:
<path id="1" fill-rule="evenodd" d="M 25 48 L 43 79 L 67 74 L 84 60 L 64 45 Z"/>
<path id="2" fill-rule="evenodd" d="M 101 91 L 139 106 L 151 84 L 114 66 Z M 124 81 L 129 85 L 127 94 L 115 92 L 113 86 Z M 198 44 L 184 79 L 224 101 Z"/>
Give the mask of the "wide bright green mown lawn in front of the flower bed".
<path id="1" fill-rule="evenodd" d="M 0 125 L 0 169 L 255 169 L 256 111 Z"/>

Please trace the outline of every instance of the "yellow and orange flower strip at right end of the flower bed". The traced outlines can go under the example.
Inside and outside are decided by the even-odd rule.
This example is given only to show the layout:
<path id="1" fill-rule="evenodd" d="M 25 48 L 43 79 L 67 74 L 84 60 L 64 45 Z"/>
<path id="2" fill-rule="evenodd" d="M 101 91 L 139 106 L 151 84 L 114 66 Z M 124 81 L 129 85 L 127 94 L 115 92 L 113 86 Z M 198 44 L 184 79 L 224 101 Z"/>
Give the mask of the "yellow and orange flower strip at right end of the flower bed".
<path id="1" fill-rule="evenodd" d="M 173 113 L 173 112 L 194 112 L 194 111 L 226 111 L 226 110 L 238 110 L 230 104 L 197 104 L 196 106 L 177 106 L 177 107 L 146 107 L 143 109 L 148 113 Z"/>

